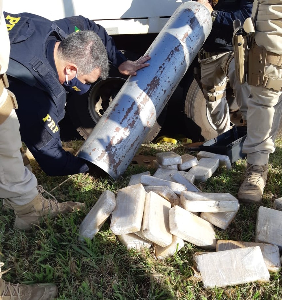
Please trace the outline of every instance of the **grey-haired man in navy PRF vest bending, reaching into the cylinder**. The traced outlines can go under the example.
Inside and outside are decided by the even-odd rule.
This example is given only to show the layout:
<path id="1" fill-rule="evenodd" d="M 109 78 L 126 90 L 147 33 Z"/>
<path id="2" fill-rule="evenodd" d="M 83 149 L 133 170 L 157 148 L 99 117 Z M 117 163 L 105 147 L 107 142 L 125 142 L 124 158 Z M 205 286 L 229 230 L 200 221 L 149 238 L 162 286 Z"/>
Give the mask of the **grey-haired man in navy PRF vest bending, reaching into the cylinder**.
<path id="1" fill-rule="evenodd" d="M 11 51 L 7 75 L 17 95 L 22 141 L 49 176 L 89 170 L 87 161 L 64 151 L 58 122 L 64 117 L 67 92 L 83 94 L 109 62 L 124 75 L 148 66 L 148 55 L 129 61 L 105 29 L 83 17 L 49 21 L 31 13 L 5 13 Z"/>

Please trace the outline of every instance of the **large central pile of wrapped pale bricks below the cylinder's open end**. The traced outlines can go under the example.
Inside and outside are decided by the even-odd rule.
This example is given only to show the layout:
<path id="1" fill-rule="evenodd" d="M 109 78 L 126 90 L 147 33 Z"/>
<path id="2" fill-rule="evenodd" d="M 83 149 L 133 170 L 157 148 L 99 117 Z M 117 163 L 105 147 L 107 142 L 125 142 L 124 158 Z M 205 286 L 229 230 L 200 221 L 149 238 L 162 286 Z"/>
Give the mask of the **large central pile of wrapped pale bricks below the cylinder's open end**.
<path id="1" fill-rule="evenodd" d="M 225 158 L 220 157 L 226 164 Z M 153 244 L 160 259 L 180 250 L 184 241 L 214 249 L 216 239 L 211 222 L 221 220 L 222 216 L 217 218 L 216 214 L 226 211 L 230 211 L 231 222 L 238 211 L 238 200 L 227 193 L 202 193 L 193 182 L 195 178 L 207 180 L 219 162 L 219 158 L 209 154 L 198 161 L 188 154 L 158 153 L 154 176 L 149 171 L 132 175 L 128 187 L 120 189 L 116 199 L 110 191 L 100 196 L 80 225 L 81 239 L 93 238 L 113 212 L 110 229 L 128 248 L 140 250 Z"/>

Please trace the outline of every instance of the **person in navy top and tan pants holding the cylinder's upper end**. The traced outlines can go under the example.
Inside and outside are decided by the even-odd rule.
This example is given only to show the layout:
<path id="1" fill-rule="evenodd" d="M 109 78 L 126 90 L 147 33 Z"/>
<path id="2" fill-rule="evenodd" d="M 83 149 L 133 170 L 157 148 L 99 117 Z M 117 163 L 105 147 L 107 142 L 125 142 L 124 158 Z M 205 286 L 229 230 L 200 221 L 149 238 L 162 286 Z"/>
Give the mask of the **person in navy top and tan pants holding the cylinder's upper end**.
<path id="1" fill-rule="evenodd" d="M 226 82 L 235 95 L 242 114 L 243 124 L 247 120 L 247 98 L 250 87 L 240 85 L 235 76 L 234 53 L 232 46 L 233 21 L 241 24 L 251 16 L 252 0 L 198 0 L 211 12 L 212 29 L 203 48 L 199 52 L 201 85 L 211 120 L 218 134 L 229 130 L 229 108 L 226 102 Z"/>

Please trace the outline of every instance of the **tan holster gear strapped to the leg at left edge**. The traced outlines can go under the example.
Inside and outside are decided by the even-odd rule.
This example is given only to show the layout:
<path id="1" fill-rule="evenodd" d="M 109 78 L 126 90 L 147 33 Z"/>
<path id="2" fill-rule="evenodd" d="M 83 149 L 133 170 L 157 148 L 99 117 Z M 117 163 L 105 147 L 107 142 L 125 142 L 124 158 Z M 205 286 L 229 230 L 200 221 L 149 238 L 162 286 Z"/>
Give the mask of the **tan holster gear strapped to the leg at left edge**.
<path id="1" fill-rule="evenodd" d="M 1 70 L 1 66 L 0 66 L 0 70 Z M 7 89 L 8 87 L 9 87 L 9 82 L 7 79 L 7 75 L 5 73 L 1 74 L 0 75 L 0 96 L 4 91 L 4 88 Z M 16 97 L 11 91 L 8 91 L 6 101 L 0 106 L 0 124 L 6 121 L 8 116 L 10 116 L 10 113 L 13 108 L 14 109 L 18 108 Z"/>

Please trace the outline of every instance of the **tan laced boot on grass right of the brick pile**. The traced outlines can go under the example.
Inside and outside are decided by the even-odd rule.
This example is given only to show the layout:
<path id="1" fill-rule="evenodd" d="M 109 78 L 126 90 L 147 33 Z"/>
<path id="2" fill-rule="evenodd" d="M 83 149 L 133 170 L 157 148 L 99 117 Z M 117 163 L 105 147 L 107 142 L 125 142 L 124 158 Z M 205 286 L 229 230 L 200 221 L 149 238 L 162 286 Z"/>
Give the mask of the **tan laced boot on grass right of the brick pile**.
<path id="1" fill-rule="evenodd" d="M 247 163 L 244 181 L 238 191 L 238 199 L 241 202 L 259 203 L 266 184 L 267 174 L 268 164 L 257 166 Z"/>

